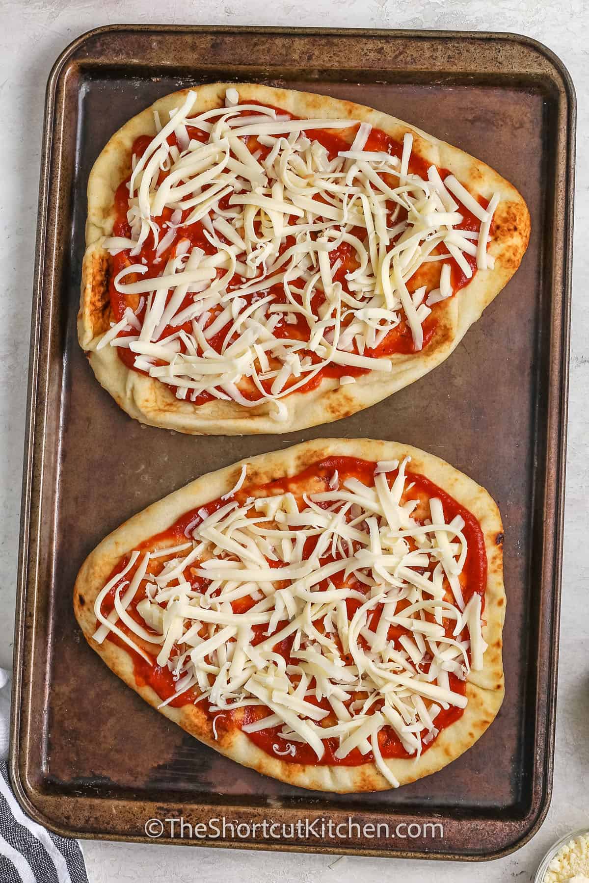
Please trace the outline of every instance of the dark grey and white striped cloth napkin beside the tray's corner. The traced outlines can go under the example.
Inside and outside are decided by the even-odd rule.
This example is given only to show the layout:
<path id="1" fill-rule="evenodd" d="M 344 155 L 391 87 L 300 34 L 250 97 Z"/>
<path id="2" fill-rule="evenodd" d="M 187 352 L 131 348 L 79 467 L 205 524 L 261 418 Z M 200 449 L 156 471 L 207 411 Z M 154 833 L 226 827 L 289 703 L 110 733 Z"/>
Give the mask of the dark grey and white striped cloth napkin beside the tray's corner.
<path id="1" fill-rule="evenodd" d="M 88 883 L 77 840 L 50 834 L 20 809 L 8 775 L 10 675 L 0 668 L 0 883 Z"/>

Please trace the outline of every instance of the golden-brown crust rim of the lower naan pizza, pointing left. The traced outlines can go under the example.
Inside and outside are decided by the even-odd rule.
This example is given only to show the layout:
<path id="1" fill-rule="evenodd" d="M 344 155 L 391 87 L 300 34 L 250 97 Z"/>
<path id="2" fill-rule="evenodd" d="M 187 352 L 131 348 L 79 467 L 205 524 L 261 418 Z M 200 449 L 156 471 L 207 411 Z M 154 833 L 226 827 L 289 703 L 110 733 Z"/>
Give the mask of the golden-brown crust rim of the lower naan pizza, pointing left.
<path id="1" fill-rule="evenodd" d="M 438 457 L 409 445 L 370 439 L 319 439 L 304 442 L 293 448 L 251 457 L 218 472 L 211 472 L 149 506 L 102 540 L 79 570 L 74 587 L 74 611 L 88 644 L 102 656 L 115 674 L 137 691 L 149 705 L 156 708 L 161 699 L 150 687 L 136 683 L 131 655 L 109 640 L 97 644 L 92 638 L 96 629 L 94 600 L 121 556 L 132 551 L 143 540 L 174 524 L 189 509 L 210 502 L 230 490 L 238 479 L 243 463 L 248 464 L 244 486 L 247 488 L 265 484 L 284 475 L 297 475 L 307 466 L 331 455 L 378 461 L 400 459 L 407 454 L 412 457 L 413 472 L 419 472 L 434 481 L 479 519 L 487 549 L 483 638 L 488 649 L 484 655 L 482 671 L 471 672 L 468 676 L 468 705 L 458 721 L 443 729 L 432 747 L 419 760 L 395 758 L 387 761 L 390 771 L 401 784 L 416 781 L 442 769 L 477 741 L 494 720 L 502 704 L 502 626 L 506 601 L 502 578 L 502 521 L 495 502 L 484 488 Z M 215 740 L 211 722 L 198 705 L 182 708 L 164 706 L 160 711 L 170 721 L 174 721 L 216 751 L 244 766 L 251 766 L 260 773 L 301 788 L 345 793 L 390 787 L 389 782 L 372 763 L 361 766 L 306 766 L 270 757 L 241 730 L 223 729 L 223 719 L 218 721 L 219 738 Z"/>

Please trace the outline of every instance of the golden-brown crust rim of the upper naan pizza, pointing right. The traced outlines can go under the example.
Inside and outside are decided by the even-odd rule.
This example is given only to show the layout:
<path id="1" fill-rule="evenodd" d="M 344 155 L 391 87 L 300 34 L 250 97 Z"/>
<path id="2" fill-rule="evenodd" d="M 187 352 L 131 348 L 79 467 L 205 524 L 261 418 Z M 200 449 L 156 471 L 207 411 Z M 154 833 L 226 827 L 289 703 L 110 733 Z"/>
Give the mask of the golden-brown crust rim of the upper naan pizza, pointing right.
<path id="1" fill-rule="evenodd" d="M 220 106 L 227 85 L 216 83 L 199 87 L 195 111 Z M 102 241 L 112 232 L 114 194 L 120 182 L 130 174 L 133 141 L 140 134 L 155 134 L 154 110 L 158 110 L 163 118 L 182 102 L 187 90 L 166 95 L 119 129 L 94 163 L 88 180 L 87 255 L 82 272 L 78 333 L 81 347 L 89 353 L 94 374 L 127 413 L 143 423 L 183 433 L 292 432 L 347 417 L 403 389 L 439 365 L 457 347 L 472 322 L 479 319 L 480 313 L 515 273 L 530 235 L 530 216 L 516 188 L 484 162 L 457 147 L 450 147 L 396 117 L 352 102 L 250 83 L 240 84 L 237 88 L 245 101 L 268 102 L 299 117 L 350 117 L 381 128 L 399 140 L 404 132 L 412 132 L 416 154 L 452 170 L 473 193 L 487 199 L 494 192 L 499 193 L 501 202 L 495 214 L 495 239 L 490 246 L 495 268 L 479 270 L 464 289 L 439 307 L 441 321 L 425 351 L 394 355 L 390 374 L 371 372 L 345 387 L 340 387 L 334 378 L 324 378 L 317 389 L 286 396 L 283 402 L 288 409 L 288 419 L 284 422 L 278 423 L 268 414 L 268 405 L 248 409 L 233 402 L 215 401 L 196 407 L 177 399 L 160 381 L 128 369 L 118 358 L 116 348 L 107 346 L 96 351 L 108 313 L 108 273 L 103 260 L 109 260 L 109 255 L 102 248 Z M 349 132 L 342 130 L 340 134 L 352 140 L 353 128 Z"/>

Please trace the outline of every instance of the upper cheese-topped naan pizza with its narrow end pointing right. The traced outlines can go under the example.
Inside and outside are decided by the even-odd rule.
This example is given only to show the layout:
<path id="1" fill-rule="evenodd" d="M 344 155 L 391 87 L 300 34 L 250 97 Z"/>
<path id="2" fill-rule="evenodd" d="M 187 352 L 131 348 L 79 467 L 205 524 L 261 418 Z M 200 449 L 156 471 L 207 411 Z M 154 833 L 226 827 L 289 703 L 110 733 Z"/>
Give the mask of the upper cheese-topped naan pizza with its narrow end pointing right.
<path id="1" fill-rule="evenodd" d="M 255 84 L 133 117 L 87 211 L 79 343 L 132 417 L 194 434 L 316 426 L 416 381 L 530 233 L 515 187 L 457 147 Z"/>

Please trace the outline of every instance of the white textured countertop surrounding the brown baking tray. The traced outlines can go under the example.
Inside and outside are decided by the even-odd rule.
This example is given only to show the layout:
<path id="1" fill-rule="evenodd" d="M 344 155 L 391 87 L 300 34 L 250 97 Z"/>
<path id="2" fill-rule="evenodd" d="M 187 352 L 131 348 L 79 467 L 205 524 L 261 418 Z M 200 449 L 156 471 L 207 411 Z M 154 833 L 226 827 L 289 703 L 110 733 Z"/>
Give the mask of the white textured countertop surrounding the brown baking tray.
<path id="1" fill-rule="evenodd" d="M 10 666 L 18 555 L 20 476 L 34 262 L 34 230 L 44 89 L 51 64 L 84 31 L 115 22 L 407 27 L 512 31 L 547 44 L 567 65 L 578 94 L 576 249 L 570 362 L 570 421 L 562 640 L 555 781 L 547 820 L 530 843 L 493 863 L 434 866 L 372 858 L 337 858 L 229 849 L 179 849 L 85 842 L 92 883 L 242 883 L 403 879 L 417 883 L 531 880 L 547 847 L 589 825 L 589 4 L 584 0 L 3 0 L 0 4 L 0 115 L 4 120 L 0 238 L 0 665 Z M 585 390 L 585 392 L 584 392 Z"/>

